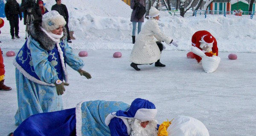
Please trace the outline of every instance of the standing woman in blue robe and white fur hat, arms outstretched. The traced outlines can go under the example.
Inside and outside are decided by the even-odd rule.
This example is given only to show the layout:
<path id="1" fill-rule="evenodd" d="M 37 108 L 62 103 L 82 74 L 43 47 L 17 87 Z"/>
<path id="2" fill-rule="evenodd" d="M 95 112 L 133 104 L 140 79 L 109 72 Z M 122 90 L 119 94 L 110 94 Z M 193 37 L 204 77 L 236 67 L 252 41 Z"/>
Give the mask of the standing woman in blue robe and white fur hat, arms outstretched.
<path id="1" fill-rule="evenodd" d="M 30 37 L 18 52 L 16 67 L 18 110 L 15 125 L 37 113 L 63 110 L 61 95 L 69 85 L 66 64 L 81 76 L 91 76 L 81 68 L 82 59 L 67 44 L 64 17 L 57 11 L 44 14 L 29 25 Z"/>

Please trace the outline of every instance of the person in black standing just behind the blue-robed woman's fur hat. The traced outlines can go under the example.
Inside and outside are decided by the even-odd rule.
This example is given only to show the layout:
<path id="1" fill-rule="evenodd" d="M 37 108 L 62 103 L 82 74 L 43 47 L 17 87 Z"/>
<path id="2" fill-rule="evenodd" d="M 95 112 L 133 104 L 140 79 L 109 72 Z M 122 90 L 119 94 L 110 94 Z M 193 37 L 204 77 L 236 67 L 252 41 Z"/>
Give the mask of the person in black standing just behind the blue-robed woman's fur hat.
<path id="1" fill-rule="evenodd" d="M 69 33 L 69 28 L 68 28 L 68 11 L 67 7 L 64 4 L 61 4 L 61 0 L 55 0 L 56 4 L 52 6 L 52 10 L 58 11 L 61 16 L 64 17 L 66 21 L 65 28 L 67 29 L 67 42 L 72 43 L 70 39 L 70 33 Z"/>

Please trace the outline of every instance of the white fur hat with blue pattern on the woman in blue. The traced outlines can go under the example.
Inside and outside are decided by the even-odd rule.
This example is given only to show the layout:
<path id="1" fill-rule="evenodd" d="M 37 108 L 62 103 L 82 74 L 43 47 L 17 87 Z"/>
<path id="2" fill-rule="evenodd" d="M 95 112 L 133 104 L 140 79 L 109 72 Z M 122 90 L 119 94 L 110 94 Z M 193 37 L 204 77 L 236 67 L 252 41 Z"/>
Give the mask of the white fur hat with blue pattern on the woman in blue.
<path id="1" fill-rule="evenodd" d="M 61 16 L 58 11 L 49 11 L 43 15 L 42 27 L 46 31 L 52 31 L 57 29 L 59 26 L 65 26 L 66 21 L 63 16 Z"/>

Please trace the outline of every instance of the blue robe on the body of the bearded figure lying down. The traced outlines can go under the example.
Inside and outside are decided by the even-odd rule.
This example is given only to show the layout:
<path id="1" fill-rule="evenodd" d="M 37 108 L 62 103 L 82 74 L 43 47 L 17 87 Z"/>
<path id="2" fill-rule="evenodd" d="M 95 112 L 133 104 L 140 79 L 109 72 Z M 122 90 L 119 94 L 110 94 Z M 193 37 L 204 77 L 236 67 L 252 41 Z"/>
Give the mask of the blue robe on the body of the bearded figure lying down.
<path id="1" fill-rule="evenodd" d="M 112 136 L 105 118 L 129 107 L 116 101 L 80 102 L 76 108 L 30 116 L 17 127 L 14 136 Z"/>

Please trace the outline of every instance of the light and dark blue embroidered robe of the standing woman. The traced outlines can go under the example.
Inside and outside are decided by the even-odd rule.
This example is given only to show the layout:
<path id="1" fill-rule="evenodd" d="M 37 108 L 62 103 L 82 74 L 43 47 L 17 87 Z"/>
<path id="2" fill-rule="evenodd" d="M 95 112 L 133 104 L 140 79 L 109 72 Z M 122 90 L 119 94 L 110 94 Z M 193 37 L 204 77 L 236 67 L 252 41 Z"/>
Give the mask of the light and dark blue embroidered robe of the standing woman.
<path id="1" fill-rule="evenodd" d="M 14 60 L 16 67 L 16 86 L 18 110 L 15 125 L 36 113 L 60 111 L 63 109 L 61 96 L 57 95 L 54 82 L 66 80 L 67 71 L 61 65 L 57 45 L 46 51 L 32 37 L 25 42 Z M 75 71 L 84 66 L 83 61 L 72 53 L 66 40 L 60 42 L 63 62 Z M 66 73 L 66 76 L 65 76 Z"/>

